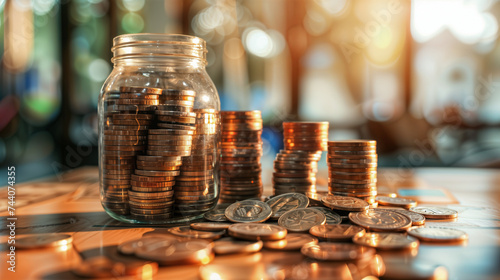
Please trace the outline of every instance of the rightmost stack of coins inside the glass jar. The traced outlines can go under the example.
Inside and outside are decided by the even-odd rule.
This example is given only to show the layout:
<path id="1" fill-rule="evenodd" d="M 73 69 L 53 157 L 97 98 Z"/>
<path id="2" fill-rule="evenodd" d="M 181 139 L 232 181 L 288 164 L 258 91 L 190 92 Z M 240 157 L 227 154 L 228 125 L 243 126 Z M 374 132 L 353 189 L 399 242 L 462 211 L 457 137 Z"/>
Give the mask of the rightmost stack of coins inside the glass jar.
<path id="1" fill-rule="evenodd" d="M 175 207 L 177 216 L 199 215 L 213 208 L 217 196 L 214 180 L 219 112 L 194 109 L 196 130 L 191 155 L 182 158 L 181 174 L 176 178 Z"/>

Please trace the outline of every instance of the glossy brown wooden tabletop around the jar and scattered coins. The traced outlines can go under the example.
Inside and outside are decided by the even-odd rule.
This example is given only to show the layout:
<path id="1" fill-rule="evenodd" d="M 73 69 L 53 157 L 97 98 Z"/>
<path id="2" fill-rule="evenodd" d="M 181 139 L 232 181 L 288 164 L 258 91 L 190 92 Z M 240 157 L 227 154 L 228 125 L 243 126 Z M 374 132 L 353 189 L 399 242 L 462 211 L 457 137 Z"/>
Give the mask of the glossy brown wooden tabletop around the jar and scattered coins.
<path id="1" fill-rule="evenodd" d="M 321 177 L 319 175 L 319 177 Z M 140 227 L 111 219 L 98 198 L 96 167 L 80 168 L 63 176 L 16 185 L 16 238 L 37 233 L 69 233 L 72 246 L 16 250 L 16 272 L 7 270 L 7 188 L 0 188 L 0 279 L 79 279 L 71 273 L 82 259 L 97 255 L 116 257 L 116 245 L 145 232 L 165 231 L 166 226 Z M 459 212 L 455 221 L 427 224 L 466 231 L 461 244 L 421 243 L 418 250 L 379 252 L 386 275 L 417 277 L 434 273 L 449 279 L 500 279 L 500 172 L 492 169 L 423 168 L 379 169 L 380 191 L 421 190 L 420 205 L 442 203 Z M 430 192 L 429 192 L 430 191 Z M 265 194 L 271 193 L 266 185 Z M 441 196 L 441 198 L 440 198 Z M 452 198 L 453 197 L 453 198 Z M 423 204 L 422 204 L 423 202 Z M 119 256 L 118 256 L 119 257 Z M 436 269 L 439 267 L 439 269 Z M 401 273 L 404 274 L 401 274 Z M 399 274 L 398 274 L 399 273 Z M 431 273 L 431 274 L 432 274 Z M 296 279 L 324 276 L 326 279 L 357 279 L 356 267 L 343 263 L 317 263 L 299 252 L 263 250 L 255 254 L 217 256 L 205 266 L 161 267 L 154 279 Z M 136 279 L 129 277 L 130 279 Z M 143 277 L 147 278 L 147 277 Z M 383 278 L 383 277 L 381 277 Z M 125 278 L 120 278 L 125 279 Z M 365 278 L 376 279 L 376 278 Z"/>

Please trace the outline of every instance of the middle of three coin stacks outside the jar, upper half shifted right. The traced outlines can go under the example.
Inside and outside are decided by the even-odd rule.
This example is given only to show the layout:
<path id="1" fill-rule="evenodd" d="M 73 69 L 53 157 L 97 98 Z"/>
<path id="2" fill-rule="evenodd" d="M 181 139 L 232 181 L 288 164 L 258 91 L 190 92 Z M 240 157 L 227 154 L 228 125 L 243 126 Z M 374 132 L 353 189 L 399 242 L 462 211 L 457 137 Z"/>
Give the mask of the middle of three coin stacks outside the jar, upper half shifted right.
<path id="1" fill-rule="evenodd" d="M 326 151 L 328 122 L 284 122 L 285 149 L 274 160 L 274 194 L 315 193 L 318 161 Z"/>

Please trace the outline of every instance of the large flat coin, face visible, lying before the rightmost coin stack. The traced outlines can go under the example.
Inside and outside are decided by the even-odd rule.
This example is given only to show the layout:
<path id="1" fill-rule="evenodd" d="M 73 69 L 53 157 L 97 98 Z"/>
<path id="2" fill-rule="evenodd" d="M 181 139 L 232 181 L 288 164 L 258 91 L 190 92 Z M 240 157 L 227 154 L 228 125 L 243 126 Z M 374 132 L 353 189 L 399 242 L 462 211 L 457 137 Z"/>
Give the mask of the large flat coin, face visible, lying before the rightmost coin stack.
<path id="1" fill-rule="evenodd" d="M 349 213 L 351 222 L 373 231 L 403 231 L 408 229 L 411 219 L 403 214 L 379 209 Z"/>

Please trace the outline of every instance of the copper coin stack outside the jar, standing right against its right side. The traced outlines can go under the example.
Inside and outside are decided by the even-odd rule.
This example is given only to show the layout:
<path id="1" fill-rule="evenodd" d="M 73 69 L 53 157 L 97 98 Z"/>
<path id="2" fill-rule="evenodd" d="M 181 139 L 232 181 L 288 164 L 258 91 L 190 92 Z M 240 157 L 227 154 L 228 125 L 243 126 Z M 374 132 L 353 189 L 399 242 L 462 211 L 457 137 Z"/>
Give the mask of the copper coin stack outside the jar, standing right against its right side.
<path id="1" fill-rule="evenodd" d="M 221 112 L 220 201 L 262 195 L 262 115 L 260 111 Z"/>

